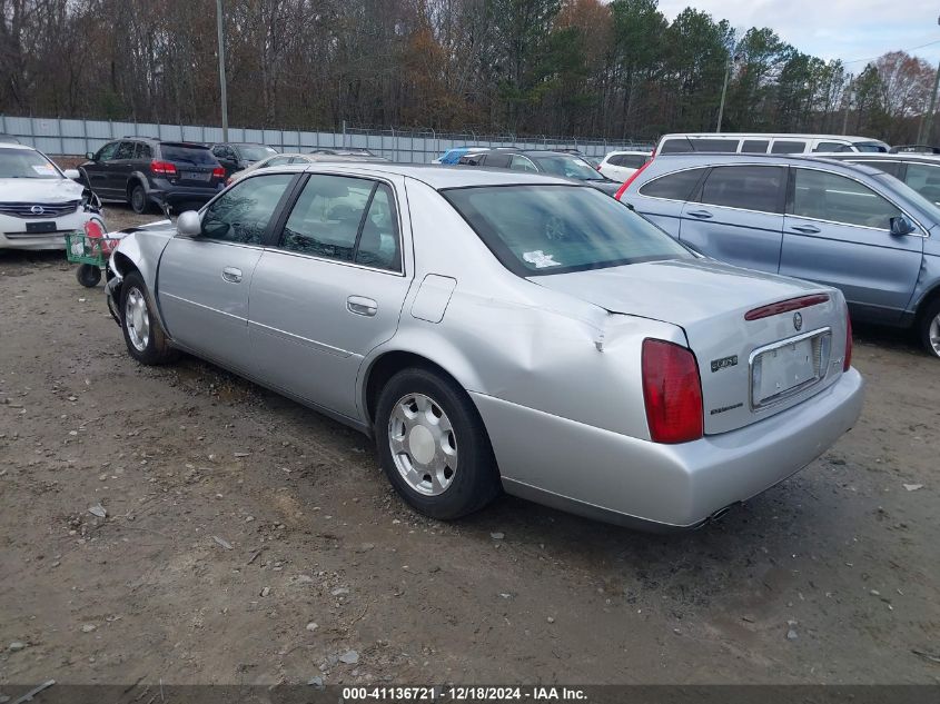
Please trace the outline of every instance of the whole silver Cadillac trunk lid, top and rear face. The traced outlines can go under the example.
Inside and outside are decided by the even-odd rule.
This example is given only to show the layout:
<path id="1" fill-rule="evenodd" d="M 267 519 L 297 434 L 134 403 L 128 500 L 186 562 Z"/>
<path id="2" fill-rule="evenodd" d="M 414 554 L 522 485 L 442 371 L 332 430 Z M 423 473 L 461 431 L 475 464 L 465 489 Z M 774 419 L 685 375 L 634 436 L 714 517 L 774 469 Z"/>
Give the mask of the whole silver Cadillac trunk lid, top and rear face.
<path id="1" fill-rule="evenodd" d="M 832 288 L 703 260 L 650 261 L 530 280 L 611 313 L 680 326 L 699 364 L 706 435 L 790 408 L 834 383 L 842 370 L 845 309 L 842 295 Z M 744 317 L 812 294 L 828 299 L 799 310 L 770 309 L 758 319 Z"/>

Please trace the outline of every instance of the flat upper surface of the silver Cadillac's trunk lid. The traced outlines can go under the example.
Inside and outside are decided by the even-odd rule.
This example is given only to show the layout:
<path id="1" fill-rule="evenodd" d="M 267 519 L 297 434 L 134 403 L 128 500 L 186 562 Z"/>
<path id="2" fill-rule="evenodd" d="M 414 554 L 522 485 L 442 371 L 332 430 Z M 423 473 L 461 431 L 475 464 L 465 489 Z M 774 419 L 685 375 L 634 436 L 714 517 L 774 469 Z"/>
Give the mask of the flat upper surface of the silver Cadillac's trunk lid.
<path id="1" fill-rule="evenodd" d="M 709 259 L 646 261 L 538 276 L 531 280 L 611 313 L 664 320 L 682 327 L 742 306 L 750 309 L 825 290 L 817 284 Z"/>

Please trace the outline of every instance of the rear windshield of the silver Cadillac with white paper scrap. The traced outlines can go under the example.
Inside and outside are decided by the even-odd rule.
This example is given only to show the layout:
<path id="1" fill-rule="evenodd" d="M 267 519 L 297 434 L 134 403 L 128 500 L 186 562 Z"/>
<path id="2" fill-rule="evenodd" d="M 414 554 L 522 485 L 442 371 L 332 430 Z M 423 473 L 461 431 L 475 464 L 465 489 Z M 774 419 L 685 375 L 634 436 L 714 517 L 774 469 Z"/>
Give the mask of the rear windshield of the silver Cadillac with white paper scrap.
<path id="1" fill-rule="evenodd" d="M 486 186 L 442 194 L 518 276 L 693 258 L 661 229 L 593 188 Z"/>

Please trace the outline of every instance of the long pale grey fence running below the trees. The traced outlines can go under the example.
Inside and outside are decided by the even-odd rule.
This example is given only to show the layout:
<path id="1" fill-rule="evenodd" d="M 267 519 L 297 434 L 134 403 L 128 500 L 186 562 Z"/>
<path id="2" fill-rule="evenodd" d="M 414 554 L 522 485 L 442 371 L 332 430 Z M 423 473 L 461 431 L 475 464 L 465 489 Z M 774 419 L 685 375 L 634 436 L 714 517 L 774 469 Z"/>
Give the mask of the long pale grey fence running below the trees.
<path id="1" fill-rule="evenodd" d="M 222 141 L 220 127 L 207 125 L 166 125 L 112 120 L 71 120 L 62 118 L 0 116 L 0 135 L 56 156 L 79 156 L 98 151 L 106 142 L 121 137 L 152 137 L 169 141 L 215 143 Z M 375 155 L 412 163 L 427 163 L 455 147 L 516 147 L 521 149 L 578 149 L 591 157 L 603 157 L 619 149 L 651 149 L 651 142 L 576 137 L 477 135 L 476 132 L 437 132 L 433 129 L 346 128 L 340 132 L 310 132 L 287 129 L 230 127 L 228 141 L 259 142 L 280 151 L 315 149 L 368 149 Z"/>

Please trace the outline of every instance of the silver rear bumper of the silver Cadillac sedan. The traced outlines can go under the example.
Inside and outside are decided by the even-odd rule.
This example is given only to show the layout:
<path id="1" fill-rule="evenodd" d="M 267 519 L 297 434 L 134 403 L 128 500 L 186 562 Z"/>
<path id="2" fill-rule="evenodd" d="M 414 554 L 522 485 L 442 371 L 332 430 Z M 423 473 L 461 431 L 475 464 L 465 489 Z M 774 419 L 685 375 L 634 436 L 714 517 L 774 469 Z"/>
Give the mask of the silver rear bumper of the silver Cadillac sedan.
<path id="1" fill-rule="evenodd" d="M 782 482 L 858 420 L 855 369 L 804 403 L 748 427 L 661 445 L 472 394 L 509 494 L 653 529 L 692 528 Z"/>

